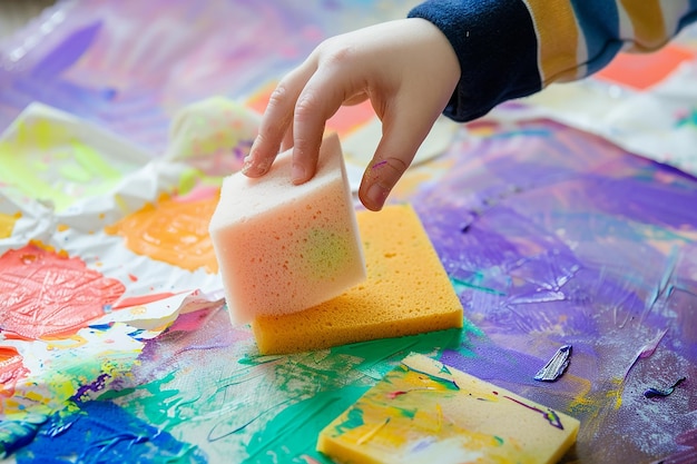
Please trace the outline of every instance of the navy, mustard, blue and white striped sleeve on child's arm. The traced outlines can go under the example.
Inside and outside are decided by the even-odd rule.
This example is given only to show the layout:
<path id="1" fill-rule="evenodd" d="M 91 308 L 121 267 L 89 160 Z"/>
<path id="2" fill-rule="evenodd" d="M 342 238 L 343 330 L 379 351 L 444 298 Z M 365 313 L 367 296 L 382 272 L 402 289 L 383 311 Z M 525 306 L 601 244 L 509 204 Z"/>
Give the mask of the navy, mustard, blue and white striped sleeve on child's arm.
<path id="1" fill-rule="evenodd" d="M 697 20 L 697 0 L 429 0 L 462 71 L 444 113 L 475 119 L 551 82 L 587 77 L 619 51 L 652 51 Z"/>

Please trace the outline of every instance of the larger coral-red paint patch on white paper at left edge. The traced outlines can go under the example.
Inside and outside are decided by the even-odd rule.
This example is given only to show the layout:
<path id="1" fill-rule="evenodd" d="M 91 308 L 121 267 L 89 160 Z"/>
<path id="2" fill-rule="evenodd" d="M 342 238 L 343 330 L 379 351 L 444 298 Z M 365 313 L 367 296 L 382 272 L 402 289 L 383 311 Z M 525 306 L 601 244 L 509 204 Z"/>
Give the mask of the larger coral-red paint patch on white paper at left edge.
<path id="1" fill-rule="evenodd" d="M 75 334 L 125 290 L 81 259 L 32 241 L 0 256 L 0 327 L 31 339 Z"/>

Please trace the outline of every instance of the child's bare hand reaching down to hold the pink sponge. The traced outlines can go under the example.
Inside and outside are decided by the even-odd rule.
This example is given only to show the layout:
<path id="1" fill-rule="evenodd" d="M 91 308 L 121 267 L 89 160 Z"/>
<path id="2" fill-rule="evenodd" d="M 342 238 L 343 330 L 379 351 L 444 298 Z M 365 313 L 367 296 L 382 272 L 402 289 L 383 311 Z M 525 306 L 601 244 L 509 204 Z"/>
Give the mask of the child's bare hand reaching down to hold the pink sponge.
<path id="1" fill-rule="evenodd" d="M 460 79 L 443 33 L 423 19 L 403 19 L 331 38 L 278 83 L 243 172 L 263 176 L 279 149 L 293 149 L 293 182 L 316 170 L 324 126 L 342 105 L 369 98 L 383 135 L 359 190 L 382 208 Z"/>

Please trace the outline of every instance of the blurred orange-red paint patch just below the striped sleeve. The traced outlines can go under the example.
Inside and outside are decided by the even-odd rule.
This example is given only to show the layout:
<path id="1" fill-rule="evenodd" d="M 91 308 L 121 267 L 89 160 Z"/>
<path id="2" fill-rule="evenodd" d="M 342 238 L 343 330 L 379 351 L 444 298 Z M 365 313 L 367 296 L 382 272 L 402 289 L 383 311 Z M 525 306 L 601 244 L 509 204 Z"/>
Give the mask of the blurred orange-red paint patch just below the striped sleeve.
<path id="1" fill-rule="evenodd" d="M 676 45 L 668 45 L 651 53 L 619 53 L 595 76 L 637 90 L 646 90 L 667 78 L 681 62 L 694 57 L 693 51 Z"/>

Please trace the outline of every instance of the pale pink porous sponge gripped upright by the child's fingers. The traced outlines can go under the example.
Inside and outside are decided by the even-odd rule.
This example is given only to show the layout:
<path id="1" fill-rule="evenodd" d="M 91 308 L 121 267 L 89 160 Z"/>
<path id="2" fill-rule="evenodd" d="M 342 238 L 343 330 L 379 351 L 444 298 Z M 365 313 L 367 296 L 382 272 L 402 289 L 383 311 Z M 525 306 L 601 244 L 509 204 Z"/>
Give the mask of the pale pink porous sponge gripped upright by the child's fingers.
<path id="1" fill-rule="evenodd" d="M 268 174 L 227 177 L 209 225 L 234 324 L 331 299 L 365 279 L 338 138 L 322 144 L 315 177 L 292 184 L 292 155 Z"/>

